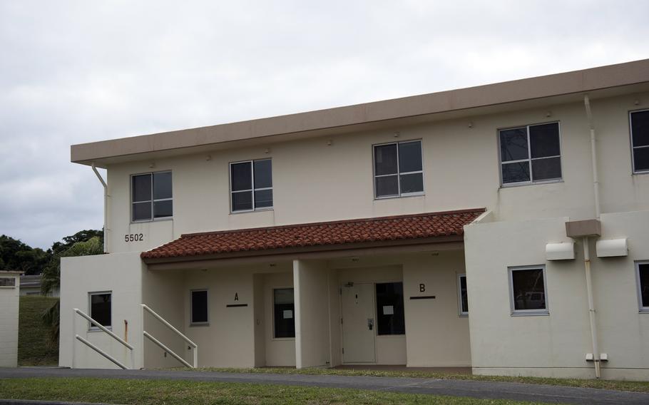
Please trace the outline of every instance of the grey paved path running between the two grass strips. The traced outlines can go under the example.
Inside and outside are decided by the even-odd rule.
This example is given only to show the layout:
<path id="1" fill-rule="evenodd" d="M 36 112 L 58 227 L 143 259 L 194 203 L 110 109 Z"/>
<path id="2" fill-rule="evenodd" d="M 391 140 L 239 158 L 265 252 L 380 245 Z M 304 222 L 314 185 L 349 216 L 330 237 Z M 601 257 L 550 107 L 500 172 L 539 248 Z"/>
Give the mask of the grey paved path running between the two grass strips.
<path id="1" fill-rule="evenodd" d="M 292 386 L 369 389 L 374 391 L 406 392 L 411 394 L 470 396 L 484 399 L 513 399 L 517 401 L 548 402 L 551 404 L 649 404 L 649 394 L 492 381 L 372 376 L 318 376 L 306 374 L 220 373 L 180 370 L 47 369 L 36 367 L 0 369 L 0 379 L 25 377 L 91 377 L 113 379 L 220 381 L 252 384 L 282 384 Z"/>

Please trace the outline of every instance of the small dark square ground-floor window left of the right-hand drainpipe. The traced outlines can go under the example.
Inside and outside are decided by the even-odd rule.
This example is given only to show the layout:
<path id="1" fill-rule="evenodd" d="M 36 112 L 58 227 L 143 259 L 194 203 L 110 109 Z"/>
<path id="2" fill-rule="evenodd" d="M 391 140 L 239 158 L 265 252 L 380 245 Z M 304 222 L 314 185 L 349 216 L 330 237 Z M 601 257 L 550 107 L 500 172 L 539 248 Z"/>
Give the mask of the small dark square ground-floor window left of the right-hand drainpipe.
<path id="1" fill-rule="evenodd" d="M 546 267 L 509 268 L 511 314 L 548 314 Z"/>

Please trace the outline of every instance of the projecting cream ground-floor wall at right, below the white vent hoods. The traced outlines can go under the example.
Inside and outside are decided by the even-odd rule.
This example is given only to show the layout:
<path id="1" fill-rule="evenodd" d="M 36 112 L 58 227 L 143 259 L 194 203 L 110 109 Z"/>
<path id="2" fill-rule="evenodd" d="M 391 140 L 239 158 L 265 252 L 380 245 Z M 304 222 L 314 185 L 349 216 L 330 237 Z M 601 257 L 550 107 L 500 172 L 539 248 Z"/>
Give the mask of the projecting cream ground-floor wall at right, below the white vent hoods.
<path id="1" fill-rule="evenodd" d="M 598 258 L 591 240 L 593 293 L 603 378 L 649 378 L 647 314 L 638 313 L 634 260 L 647 258 L 648 212 L 602 215 L 602 237 L 628 237 L 629 255 Z M 593 377 L 581 242 L 576 259 L 547 261 L 548 242 L 571 242 L 566 217 L 465 227 L 471 359 L 477 374 Z M 524 235 L 524 237 L 521 237 Z M 546 265 L 549 314 L 512 316 L 508 267 Z"/>

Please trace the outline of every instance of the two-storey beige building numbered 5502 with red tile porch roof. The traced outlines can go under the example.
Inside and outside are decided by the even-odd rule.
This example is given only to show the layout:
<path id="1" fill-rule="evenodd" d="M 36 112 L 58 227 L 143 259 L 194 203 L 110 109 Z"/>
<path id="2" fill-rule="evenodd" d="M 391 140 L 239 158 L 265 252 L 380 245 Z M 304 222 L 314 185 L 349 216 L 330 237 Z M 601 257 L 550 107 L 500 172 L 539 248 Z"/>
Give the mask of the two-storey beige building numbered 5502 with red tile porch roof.
<path id="1" fill-rule="evenodd" d="M 107 254 L 62 260 L 61 366 L 649 379 L 649 60 L 71 160 Z"/>

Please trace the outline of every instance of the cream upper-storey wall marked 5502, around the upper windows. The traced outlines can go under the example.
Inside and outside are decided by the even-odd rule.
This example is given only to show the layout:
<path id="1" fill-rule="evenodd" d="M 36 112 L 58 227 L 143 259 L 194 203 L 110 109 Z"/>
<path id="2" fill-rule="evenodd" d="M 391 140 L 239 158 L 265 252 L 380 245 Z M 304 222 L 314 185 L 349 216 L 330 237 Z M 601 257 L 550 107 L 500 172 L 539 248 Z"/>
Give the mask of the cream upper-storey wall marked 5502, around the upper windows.
<path id="1" fill-rule="evenodd" d="M 649 175 L 631 175 L 628 111 L 643 95 L 592 103 L 604 212 L 649 209 Z M 648 95 L 645 95 L 645 98 Z M 550 115 L 548 117 L 548 114 Z M 498 128 L 558 121 L 563 181 L 499 187 Z M 471 122 L 471 128 L 469 128 Z M 395 131 L 399 137 L 395 138 Z M 374 200 L 372 145 L 421 139 L 425 195 Z M 327 145 L 331 140 L 331 145 Z M 228 163 L 272 158 L 274 210 L 230 214 Z M 588 123 L 583 103 L 381 128 L 327 138 L 215 150 L 108 168 L 111 250 L 147 250 L 184 232 L 487 207 L 497 220 L 593 216 Z M 295 170 L 300 168 L 300 170 Z M 173 220 L 131 224 L 130 175 L 173 171 Z M 314 210 L 313 207 L 318 207 Z M 142 242 L 125 235 L 142 233 Z"/>

